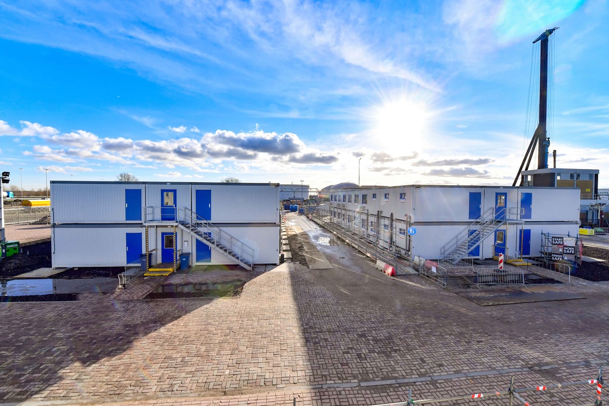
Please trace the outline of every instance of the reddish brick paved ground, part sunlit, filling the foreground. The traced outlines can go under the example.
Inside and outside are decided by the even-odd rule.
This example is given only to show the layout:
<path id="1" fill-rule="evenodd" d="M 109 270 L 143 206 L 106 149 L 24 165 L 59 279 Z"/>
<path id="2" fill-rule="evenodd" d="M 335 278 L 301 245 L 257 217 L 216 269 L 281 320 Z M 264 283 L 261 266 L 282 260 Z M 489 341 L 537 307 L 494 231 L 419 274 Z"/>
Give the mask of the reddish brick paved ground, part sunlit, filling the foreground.
<path id="1" fill-rule="evenodd" d="M 333 270 L 284 264 L 239 298 L 0 304 L 0 402 L 365 405 L 408 387 L 423 399 L 505 390 L 510 376 L 591 379 L 609 364 L 607 282 L 561 285 L 586 299 L 481 307 L 340 244 L 319 249 Z M 528 400 L 592 404 L 593 389 Z"/>

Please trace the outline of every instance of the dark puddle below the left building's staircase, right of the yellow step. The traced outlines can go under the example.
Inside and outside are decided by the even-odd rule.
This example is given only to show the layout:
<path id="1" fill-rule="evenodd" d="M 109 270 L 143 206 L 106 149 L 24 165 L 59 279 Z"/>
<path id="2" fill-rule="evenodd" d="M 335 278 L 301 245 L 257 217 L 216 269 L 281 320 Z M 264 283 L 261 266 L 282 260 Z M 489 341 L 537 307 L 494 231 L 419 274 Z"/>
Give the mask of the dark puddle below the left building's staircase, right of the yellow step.
<path id="1" fill-rule="evenodd" d="M 192 283 L 192 284 L 164 284 L 150 293 L 148 299 L 167 298 L 221 298 L 224 296 L 236 296 L 241 293 L 244 281 L 233 281 L 224 283 Z"/>

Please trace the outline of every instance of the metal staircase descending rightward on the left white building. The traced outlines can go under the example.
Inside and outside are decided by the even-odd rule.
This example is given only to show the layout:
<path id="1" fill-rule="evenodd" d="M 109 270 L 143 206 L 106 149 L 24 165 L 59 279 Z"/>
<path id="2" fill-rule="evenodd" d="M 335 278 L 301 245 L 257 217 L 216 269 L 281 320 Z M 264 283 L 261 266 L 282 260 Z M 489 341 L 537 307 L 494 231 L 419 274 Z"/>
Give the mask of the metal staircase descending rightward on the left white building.
<path id="1" fill-rule="evenodd" d="M 248 271 L 252 270 L 254 263 L 254 250 L 252 247 L 245 245 L 189 208 L 184 208 L 180 212 L 183 212 L 178 221 L 178 226 L 181 229 L 194 236 L 200 242 L 205 243 L 205 245 L 229 257 Z"/>

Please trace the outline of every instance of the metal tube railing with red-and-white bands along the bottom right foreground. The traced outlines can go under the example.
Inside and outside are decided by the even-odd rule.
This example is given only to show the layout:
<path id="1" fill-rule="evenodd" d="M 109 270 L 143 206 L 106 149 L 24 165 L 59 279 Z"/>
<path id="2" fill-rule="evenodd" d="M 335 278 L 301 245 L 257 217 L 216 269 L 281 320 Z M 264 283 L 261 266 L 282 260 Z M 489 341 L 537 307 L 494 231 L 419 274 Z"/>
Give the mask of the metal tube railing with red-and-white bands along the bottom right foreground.
<path id="1" fill-rule="evenodd" d="M 415 401 L 412 399 L 412 390 L 408 390 L 408 400 L 402 402 L 391 402 L 384 404 L 376 404 L 371 406 L 412 406 L 412 405 L 423 405 L 428 403 L 439 403 L 439 402 L 455 402 L 455 401 L 471 401 L 472 399 L 488 399 L 491 397 L 508 396 L 507 402 L 509 406 L 513 406 L 514 400 L 518 401 L 519 404 L 524 406 L 530 406 L 530 403 L 521 396 L 521 393 L 531 391 L 545 391 L 554 388 L 571 387 L 575 385 L 594 385 L 596 387 L 596 394 L 594 396 L 594 402 L 590 402 L 590 405 L 602 406 L 601 394 L 603 384 L 603 368 L 599 368 L 599 375 L 596 379 L 578 380 L 576 382 L 566 383 L 552 383 L 550 385 L 536 385 L 527 388 L 516 388 L 514 385 L 514 378 L 510 378 L 510 387 L 504 391 L 492 391 L 492 392 L 481 392 L 471 393 L 463 396 L 450 396 L 450 397 L 438 397 L 435 399 L 420 399 Z"/>

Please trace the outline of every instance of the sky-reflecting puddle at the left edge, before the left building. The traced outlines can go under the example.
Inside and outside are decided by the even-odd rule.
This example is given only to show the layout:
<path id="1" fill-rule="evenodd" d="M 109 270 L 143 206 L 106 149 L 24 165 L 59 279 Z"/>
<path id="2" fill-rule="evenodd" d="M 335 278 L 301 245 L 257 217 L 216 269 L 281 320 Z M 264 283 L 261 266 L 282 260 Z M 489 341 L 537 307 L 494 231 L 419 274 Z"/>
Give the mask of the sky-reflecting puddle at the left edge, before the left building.
<path id="1" fill-rule="evenodd" d="M 64 295 L 67 293 L 108 293 L 116 289 L 116 278 L 13 279 L 0 282 L 0 296 Z"/>

